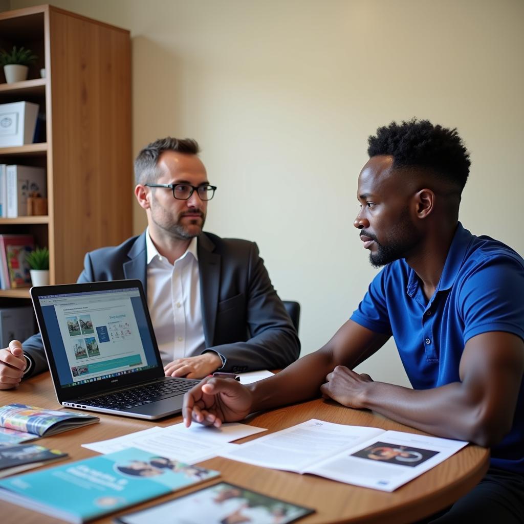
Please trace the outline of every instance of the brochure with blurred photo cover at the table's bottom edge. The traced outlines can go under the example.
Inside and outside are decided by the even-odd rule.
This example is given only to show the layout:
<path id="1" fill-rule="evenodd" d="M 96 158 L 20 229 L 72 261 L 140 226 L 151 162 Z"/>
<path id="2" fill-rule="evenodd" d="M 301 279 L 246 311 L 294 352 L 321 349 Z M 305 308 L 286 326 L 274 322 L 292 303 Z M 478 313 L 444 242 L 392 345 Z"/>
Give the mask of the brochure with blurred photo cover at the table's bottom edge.
<path id="1" fill-rule="evenodd" d="M 221 482 L 169 502 L 117 517 L 119 524 L 287 524 L 310 515 L 313 509 Z"/>

